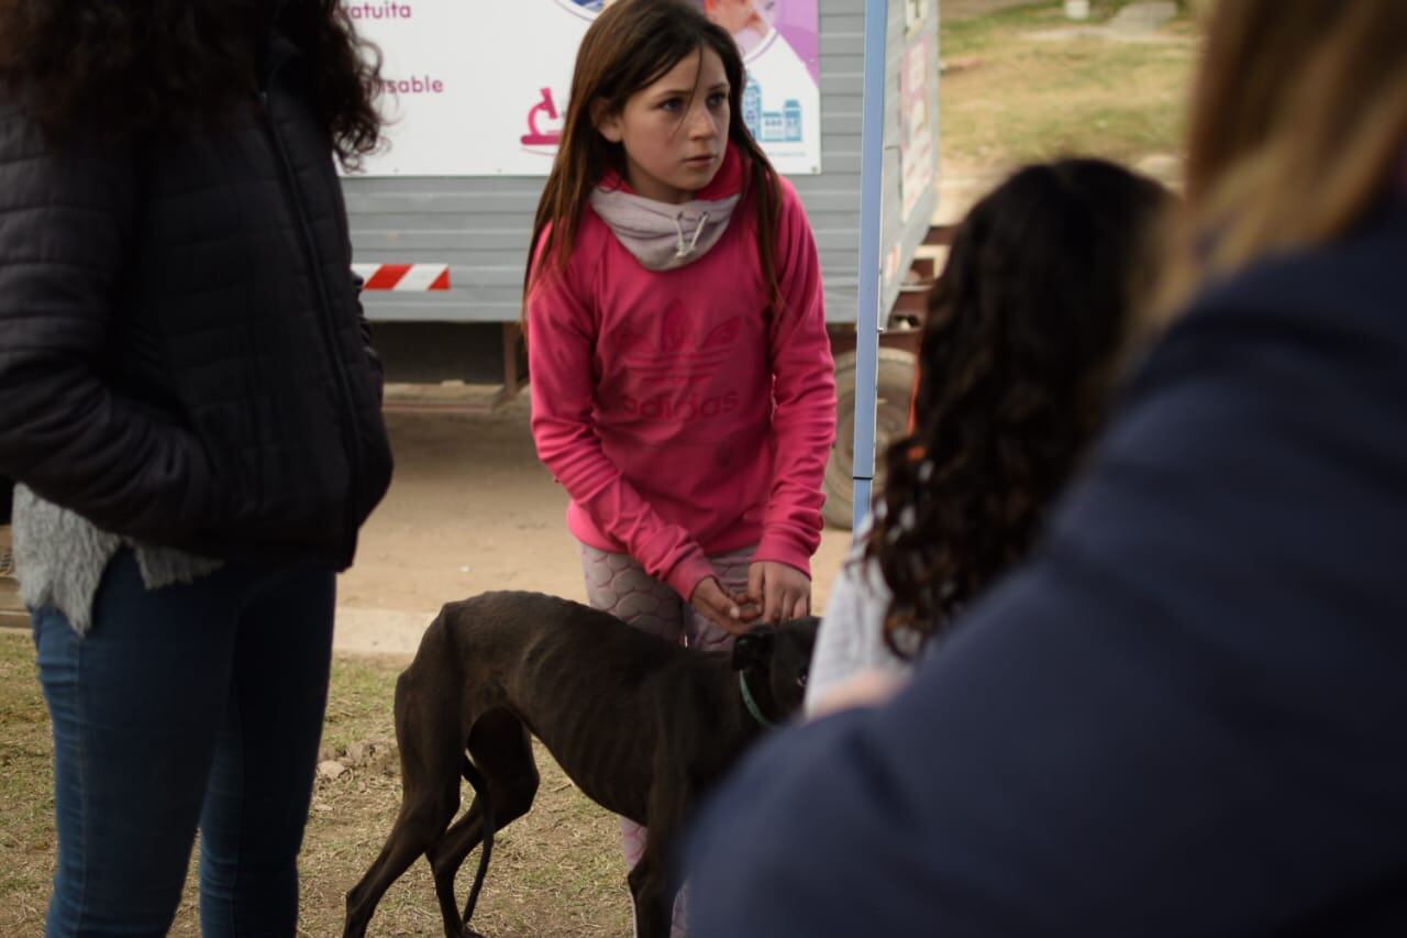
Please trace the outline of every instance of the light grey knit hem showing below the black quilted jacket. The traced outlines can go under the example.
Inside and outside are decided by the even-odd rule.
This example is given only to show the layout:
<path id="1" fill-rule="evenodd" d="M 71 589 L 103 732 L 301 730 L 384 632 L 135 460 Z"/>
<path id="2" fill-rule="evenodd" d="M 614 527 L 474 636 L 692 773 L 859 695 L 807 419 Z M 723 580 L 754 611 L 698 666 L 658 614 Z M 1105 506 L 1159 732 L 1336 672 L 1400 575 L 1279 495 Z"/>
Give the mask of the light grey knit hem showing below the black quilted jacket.
<path id="1" fill-rule="evenodd" d="M 136 554 L 148 590 L 193 583 L 221 566 L 219 561 L 101 531 L 87 518 L 45 501 L 23 484 L 14 487 L 10 532 L 14 572 L 24 604 L 59 610 L 80 635 L 93 625 L 93 599 L 103 570 L 122 546 L 131 546 Z"/>

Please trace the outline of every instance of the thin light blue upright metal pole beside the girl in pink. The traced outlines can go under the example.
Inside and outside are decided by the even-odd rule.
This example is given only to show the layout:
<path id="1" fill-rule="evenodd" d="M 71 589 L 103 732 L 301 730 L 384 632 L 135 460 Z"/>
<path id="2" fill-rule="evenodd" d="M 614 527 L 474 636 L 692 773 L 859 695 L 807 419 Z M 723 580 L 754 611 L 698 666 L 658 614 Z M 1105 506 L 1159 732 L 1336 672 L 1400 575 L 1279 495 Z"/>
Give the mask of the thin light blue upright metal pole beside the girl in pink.
<path id="1" fill-rule="evenodd" d="M 860 123 L 860 310 L 855 317 L 854 530 L 870 514 L 879 372 L 879 207 L 884 201 L 884 83 L 889 1 L 865 0 L 865 80 Z"/>

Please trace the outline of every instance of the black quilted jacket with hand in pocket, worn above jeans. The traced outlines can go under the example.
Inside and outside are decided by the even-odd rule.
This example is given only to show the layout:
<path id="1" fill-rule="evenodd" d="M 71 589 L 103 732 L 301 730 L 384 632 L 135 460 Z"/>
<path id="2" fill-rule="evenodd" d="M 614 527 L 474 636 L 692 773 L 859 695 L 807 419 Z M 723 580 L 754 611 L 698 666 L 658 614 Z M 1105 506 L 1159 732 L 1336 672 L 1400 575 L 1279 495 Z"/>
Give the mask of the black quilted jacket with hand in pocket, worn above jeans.
<path id="1" fill-rule="evenodd" d="M 352 562 L 391 454 L 291 45 L 219 130 L 46 146 L 0 100 L 0 475 L 205 556 Z"/>

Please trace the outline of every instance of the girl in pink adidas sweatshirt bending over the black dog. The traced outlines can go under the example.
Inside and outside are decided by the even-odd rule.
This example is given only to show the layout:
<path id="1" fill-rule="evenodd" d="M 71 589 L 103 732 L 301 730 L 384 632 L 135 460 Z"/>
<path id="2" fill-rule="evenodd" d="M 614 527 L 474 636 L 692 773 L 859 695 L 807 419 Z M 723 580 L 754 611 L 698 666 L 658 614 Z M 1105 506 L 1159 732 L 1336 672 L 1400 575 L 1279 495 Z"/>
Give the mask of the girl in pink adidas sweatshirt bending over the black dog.
<path id="1" fill-rule="evenodd" d="M 588 597 L 701 648 L 809 611 L 834 437 L 816 245 L 743 85 L 695 6 L 604 11 L 526 275 L 533 438 Z"/>

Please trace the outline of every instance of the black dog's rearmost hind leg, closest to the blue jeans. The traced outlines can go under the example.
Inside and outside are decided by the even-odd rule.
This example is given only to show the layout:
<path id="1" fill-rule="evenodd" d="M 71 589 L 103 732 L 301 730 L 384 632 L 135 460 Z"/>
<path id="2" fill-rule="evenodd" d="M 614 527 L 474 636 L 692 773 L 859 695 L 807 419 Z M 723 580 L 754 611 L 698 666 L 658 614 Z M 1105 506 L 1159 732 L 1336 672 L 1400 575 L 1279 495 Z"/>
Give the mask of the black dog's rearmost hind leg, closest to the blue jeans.
<path id="1" fill-rule="evenodd" d="M 401 749 L 401 810 L 386 846 L 348 892 L 343 938 L 362 938 L 386 890 L 440 839 L 459 810 L 463 759 L 453 706 L 422 693 L 409 673 L 395 683 L 395 741 Z M 456 935 L 457 938 L 457 935 Z"/>

